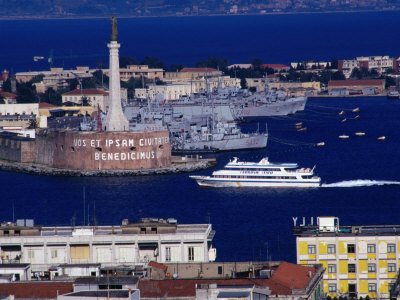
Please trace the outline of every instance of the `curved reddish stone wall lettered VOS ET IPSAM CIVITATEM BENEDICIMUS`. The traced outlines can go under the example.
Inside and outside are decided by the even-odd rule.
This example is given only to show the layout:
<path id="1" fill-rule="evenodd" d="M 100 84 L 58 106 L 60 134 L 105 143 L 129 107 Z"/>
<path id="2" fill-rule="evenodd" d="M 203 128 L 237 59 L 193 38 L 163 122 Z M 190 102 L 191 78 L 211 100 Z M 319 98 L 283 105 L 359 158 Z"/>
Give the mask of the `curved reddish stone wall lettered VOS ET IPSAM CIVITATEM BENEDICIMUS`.
<path id="1" fill-rule="evenodd" d="M 168 131 L 56 132 L 53 166 L 81 170 L 131 170 L 171 166 Z"/>

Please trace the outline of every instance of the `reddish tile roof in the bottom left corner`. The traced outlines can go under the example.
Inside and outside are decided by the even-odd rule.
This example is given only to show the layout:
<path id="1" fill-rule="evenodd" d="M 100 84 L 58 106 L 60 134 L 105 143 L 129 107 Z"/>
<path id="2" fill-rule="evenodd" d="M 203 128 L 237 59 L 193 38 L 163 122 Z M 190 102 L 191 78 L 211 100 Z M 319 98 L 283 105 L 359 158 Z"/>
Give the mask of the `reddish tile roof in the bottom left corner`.
<path id="1" fill-rule="evenodd" d="M 14 295 L 15 298 L 57 298 L 57 294 L 63 295 L 72 291 L 73 282 L 0 283 L 0 295 Z"/>

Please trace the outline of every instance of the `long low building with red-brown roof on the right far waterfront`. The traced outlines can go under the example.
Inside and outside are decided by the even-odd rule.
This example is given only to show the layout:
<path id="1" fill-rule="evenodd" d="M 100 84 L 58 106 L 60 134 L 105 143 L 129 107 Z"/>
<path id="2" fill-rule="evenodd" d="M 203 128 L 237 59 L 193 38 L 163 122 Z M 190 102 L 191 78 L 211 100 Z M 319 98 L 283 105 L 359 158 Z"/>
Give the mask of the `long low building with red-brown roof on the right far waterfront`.
<path id="1" fill-rule="evenodd" d="M 381 94 L 385 90 L 384 79 L 349 79 L 349 80 L 330 80 L 328 82 L 328 93 L 332 89 L 346 89 L 350 94 L 362 94 L 364 89 L 374 89 Z"/>

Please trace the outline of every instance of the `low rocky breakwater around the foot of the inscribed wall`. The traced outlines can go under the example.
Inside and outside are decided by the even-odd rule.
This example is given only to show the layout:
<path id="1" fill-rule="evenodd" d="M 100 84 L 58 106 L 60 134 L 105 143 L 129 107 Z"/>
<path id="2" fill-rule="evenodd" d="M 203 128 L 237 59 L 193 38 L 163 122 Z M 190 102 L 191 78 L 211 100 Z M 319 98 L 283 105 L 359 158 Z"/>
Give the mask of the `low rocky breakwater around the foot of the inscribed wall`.
<path id="1" fill-rule="evenodd" d="M 47 165 L 18 163 L 0 160 L 0 171 L 19 172 L 45 176 L 75 176 L 75 177 L 112 177 L 112 176 L 145 176 L 166 175 L 186 172 L 195 172 L 211 168 L 216 165 L 213 158 L 174 157 L 170 167 L 137 170 L 75 170 L 53 168 Z"/>

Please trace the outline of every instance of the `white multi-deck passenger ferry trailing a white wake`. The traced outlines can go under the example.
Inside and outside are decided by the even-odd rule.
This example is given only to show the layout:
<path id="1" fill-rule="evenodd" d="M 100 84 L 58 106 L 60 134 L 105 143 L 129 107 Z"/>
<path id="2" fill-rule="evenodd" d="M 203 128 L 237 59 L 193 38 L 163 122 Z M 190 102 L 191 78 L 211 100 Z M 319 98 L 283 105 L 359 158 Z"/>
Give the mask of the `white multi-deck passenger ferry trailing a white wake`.
<path id="1" fill-rule="evenodd" d="M 231 187 L 319 187 L 321 178 L 314 175 L 314 168 L 298 168 L 297 164 L 270 163 L 263 158 L 258 163 L 242 162 L 235 157 L 223 170 L 212 176 L 189 176 L 201 186 Z"/>

